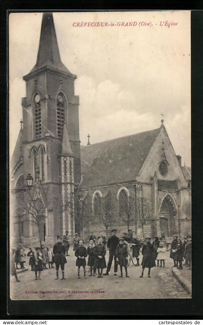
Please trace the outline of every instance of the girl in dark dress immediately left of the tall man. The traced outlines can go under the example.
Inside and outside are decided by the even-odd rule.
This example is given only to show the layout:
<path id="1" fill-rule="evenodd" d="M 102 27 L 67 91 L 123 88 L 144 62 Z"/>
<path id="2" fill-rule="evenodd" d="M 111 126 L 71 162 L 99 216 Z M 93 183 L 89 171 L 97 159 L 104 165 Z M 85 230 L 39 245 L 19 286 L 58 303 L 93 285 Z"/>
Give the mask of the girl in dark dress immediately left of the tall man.
<path id="1" fill-rule="evenodd" d="M 95 250 L 95 269 L 98 269 L 98 277 L 103 278 L 102 272 L 103 268 L 107 267 L 105 255 L 106 255 L 106 247 L 102 244 L 102 237 L 98 239 L 98 244 L 94 248 Z M 100 271 L 101 270 L 101 271 Z"/>

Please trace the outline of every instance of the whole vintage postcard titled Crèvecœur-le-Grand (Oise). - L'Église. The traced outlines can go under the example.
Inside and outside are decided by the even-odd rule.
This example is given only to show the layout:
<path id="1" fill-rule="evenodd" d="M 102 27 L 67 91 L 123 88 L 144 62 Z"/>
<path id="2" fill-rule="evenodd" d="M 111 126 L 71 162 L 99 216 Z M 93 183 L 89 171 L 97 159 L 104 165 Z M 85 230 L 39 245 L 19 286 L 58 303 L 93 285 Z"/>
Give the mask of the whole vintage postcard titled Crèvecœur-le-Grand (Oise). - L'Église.
<path id="1" fill-rule="evenodd" d="M 190 11 L 9 14 L 12 300 L 191 298 L 190 74 Z"/>

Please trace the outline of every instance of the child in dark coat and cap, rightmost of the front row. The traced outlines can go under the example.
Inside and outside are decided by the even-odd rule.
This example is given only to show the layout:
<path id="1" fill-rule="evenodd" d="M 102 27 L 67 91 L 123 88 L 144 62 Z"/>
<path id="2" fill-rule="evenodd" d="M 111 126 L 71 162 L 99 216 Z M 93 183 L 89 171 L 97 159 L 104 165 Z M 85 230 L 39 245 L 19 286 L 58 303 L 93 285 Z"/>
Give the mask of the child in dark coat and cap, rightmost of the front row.
<path id="1" fill-rule="evenodd" d="M 150 236 L 147 236 L 145 238 L 146 243 L 143 244 L 142 247 L 142 254 L 143 254 L 143 259 L 142 259 L 142 274 L 140 278 L 143 277 L 145 267 L 148 267 L 148 278 L 151 278 L 150 276 L 150 270 L 151 267 L 156 266 L 155 264 L 155 259 L 154 259 L 154 246 L 150 243 Z"/>

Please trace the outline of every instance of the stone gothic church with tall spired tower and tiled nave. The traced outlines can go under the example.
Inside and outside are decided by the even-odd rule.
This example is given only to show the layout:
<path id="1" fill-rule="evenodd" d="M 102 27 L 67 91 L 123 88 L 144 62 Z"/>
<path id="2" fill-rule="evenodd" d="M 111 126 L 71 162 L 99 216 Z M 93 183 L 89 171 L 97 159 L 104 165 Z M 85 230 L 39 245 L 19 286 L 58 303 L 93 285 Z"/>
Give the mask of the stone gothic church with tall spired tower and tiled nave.
<path id="1" fill-rule="evenodd" d="M 46 194 L 44 210 L 39 229 L 11 194 L 11 242 L 34 245 L 41 232 L 52 245 L 66 231 L 87 240 L 91 230 L 108 236 L 112 227 L 139 237 L 190 234 L 191 172 L 175 154 L 164 121 L 155 130 L 81 146 L 76 78 L 61 62 L 52 14 L 43 13 L 36 64 L 23 77 L 10 179 L 11 188 L 25 188 L 31 174 L 36 195 Z"/>

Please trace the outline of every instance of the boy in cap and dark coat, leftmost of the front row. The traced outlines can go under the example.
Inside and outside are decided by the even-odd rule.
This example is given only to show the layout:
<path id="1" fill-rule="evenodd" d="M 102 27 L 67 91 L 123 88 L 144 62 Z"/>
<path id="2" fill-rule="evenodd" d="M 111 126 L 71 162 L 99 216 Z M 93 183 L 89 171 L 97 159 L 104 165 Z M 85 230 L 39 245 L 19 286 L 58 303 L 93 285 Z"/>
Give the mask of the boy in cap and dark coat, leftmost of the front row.
<path id="1" fill-rule="evenodd" d="M 62 244 L 62 237 L 57 236 L 57 243 L 53 247 L 53 254 L 54 254 L 54 263 L 56 264 L 56 278 L 55 280 L 58 280 L 58 269 L 59 266 L 61 266 L 61 271 L 62 271 L 62 279 L 61 280 L 66 280 L 64 276 L 64 266 L 67 263 L 66 261 L 66 248 Z"/>

